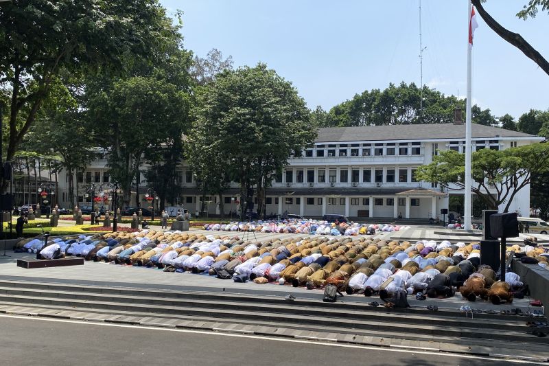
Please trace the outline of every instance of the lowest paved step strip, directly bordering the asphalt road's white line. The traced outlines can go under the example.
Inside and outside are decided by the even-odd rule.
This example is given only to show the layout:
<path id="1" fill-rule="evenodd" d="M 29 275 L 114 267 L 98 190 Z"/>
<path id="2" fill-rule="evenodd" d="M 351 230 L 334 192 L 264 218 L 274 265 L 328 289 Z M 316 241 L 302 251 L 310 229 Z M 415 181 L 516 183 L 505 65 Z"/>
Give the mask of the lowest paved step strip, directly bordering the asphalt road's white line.
<path id="1" fill-rule="evenodd" d="M 91 312 L 93 311 L 93 312 Z M 430 338 L 419 334 L 392 333 L 383 331 L 362 331 L 351 328 L 326 328 L 318 325 L 277 324 L 265 321 L 246 321 L 242 319 L 211 319 L 205 317 L 186 317 L 177 314 L 149 314 L 117 312 L 113 315 L 106 309 L 89 310 L 65 306 L 12 306 L 0 303 L 0 313 L 54 317 L 86 321 L 104 321 L 110 323 L 139 324 L 168 328 L 190 328 L 214 330 L 216 332 L 235 332 L 258 334 L 263 336 L 283 336 L 312 341 L 354 343 L 384 347 L 401 347 L 406 350 L 430 350 L 464 354 L 500 354 L 506 358 L 547 361 L 546 345 L 524 344 L 516 341 L 494 343 L 484 339 L 465 339 L 449 336 Z M 318 331 L 319 329 L 320 332 Z M 526 348 L 525 348 L 526 347 Z"/>

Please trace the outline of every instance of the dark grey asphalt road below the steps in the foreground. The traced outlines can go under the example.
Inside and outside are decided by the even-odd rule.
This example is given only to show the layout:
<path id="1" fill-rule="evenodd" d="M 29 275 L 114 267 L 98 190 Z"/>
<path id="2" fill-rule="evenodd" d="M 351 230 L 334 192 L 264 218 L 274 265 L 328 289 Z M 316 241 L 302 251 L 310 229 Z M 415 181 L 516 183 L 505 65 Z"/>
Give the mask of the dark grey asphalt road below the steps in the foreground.
<path id="1" fill-rule="evenodd" d="M 446 354 L 32 317 L 0 316 L 0 330 L 2 365 L 502 365 Z"/>

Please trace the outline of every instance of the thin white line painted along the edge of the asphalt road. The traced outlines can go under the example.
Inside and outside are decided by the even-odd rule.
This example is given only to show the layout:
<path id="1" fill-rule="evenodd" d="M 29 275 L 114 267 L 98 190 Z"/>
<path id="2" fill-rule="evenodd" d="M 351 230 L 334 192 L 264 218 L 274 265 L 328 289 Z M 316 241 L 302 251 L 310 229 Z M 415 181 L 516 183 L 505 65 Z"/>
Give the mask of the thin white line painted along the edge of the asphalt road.
<path id="1" fill-rule="evenodd" d="M 213 336 L 231 336 L 231 337 L 239 337 L 239 338 L 250 338 L 250 339 L 264 339 L 266 341 L 278 341 L 278 342 L 288 342 L 288 343 L 305 343 L 308 345 L 323 345 L 326 346 L 327 343 L 325 342 L 317 342 L 317 341 L 300 341 L 299 339 L 295 338 L 277 338 L 277 337 L 269 337 L 269 336 L 257 336 L 257 335 L 250 335 L 250 334 L 230 334 L 230 333 L 220 333 L 220 332 L 212 332 L 207 330 L 187 330 L 187 329 L 174 329 L 174 328 L 162 328 L 162 327 L 150 327 L 145 325 L 125 325 L 125 324 L 119 324 L 119 323 L 95 323 L 91 321 L 78 321 L 78 320 L 71 320 L 71 319 L 45 319 L 45 318 L 38 318 L 38 317 L 21 317 L 17 315 L 9 315 L 9 314 L 0 314 L 0 318 L 14 318 L 14 319 L 27 319 L 32 321 L 55 321 L 58 323 L 75 323 L 75 324 L 86 324 L 86 325 L 97 325 L 97 326 L 106 326 L 106 327 L 116 327 L 116 328 L 137 328 L 137 329 L 144 329 L 144 330 L 156 330 L 161 332 L 181 332 L 181 333 L 190 333 L 190 334 L 208 334 Z M 343 344 L 343 343 L 329 343 L 332 347 L 344 347 L 344 348 L 356 348 L 360 350 L 377 350 L 377 351 L 384 351 L 384 352 L 400 352 L 400 353 L 411 353 L 411 354 L 428 354 L 432 356 L 441 355 L 441 352 L 427 352 L 427 351 L 421 351 L 421 350 L 399 350 L 395 348 L 390 347 L 375 347 L 375 346 L 369 346 L 369 345 L 349 345 L 349 344 Z M 471 354 L 453 354 L 453 353 L 443 353 L 444 356 L 449 357 L 456 357 L 456 358 L 471 358 L 476 360 L 487 360 L 487 361 L 500 361 L 500 362 L 508 362 L 508 363 L 528 363 L 530 365 L 548 365 L 547 362 L 540 362 L 534 363 L 533 361 L 522 361 L 517 358 L 491 358 L 491 357 L 484 357 L 484 356 L 475 356 Z"/>

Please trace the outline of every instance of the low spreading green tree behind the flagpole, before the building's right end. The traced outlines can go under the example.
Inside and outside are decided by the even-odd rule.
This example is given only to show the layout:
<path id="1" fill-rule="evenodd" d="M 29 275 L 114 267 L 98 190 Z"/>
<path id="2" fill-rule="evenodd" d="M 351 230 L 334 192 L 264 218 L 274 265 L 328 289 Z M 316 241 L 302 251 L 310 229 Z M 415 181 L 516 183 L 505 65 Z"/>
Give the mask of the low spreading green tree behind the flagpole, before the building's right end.
<path id="1" fill-rule="evenodd" d="M 532 176 L 549 171 L 549 144 L 530 144 L 507 150 L 482 149 L 473 152 L 471 192 L 489 209 L 504 205 L 509 210 L 513 198 L 528 187 Z M 422 165 L 416 179 L 438 183 L 449 190 L 465 188 L 465 155 L 454 150 L 441 152 L 432 163 Z"/>

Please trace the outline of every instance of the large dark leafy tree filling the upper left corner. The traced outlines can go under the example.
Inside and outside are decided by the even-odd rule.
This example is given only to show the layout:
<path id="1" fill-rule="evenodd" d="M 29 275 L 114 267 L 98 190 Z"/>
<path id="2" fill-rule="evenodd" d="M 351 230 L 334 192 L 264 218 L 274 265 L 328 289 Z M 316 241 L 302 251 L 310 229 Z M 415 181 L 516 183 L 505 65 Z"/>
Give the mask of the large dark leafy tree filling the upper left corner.
<path id="1" fill-rule="evenodd" d="M 122 71 L 148 55 L 171 22 L 158 0 L 13 0 L 0 7 L 0 87 L 12 160 L 60 73 Z"/>

